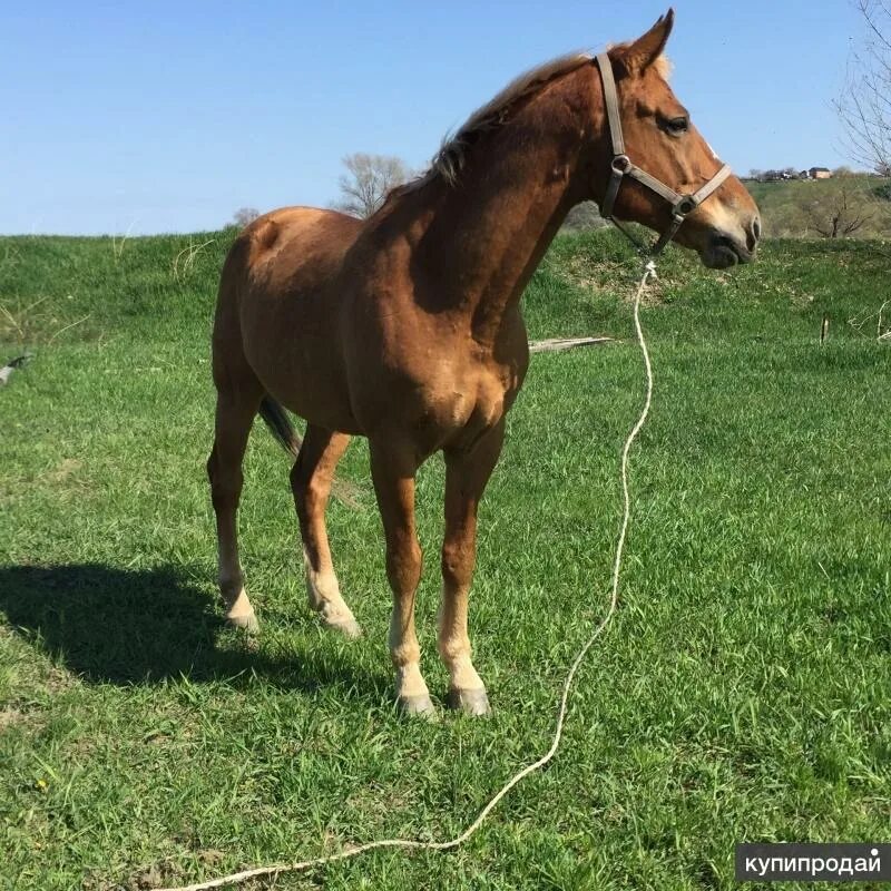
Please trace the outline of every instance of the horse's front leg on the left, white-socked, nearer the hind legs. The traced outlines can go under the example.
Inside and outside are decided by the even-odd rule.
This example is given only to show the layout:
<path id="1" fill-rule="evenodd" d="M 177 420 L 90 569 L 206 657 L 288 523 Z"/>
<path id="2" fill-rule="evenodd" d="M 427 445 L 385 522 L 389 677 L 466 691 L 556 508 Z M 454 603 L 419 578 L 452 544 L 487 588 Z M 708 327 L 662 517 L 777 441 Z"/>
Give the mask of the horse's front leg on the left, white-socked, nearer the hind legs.
<path id="1" fill-rule="evenodd" d="M 414 631 L 414 595 L 421 580 L 421 546 L 414 528 L 413 449 L 372 440 L 371 471 L 386 538 L 386 577 L 393 591 L 390 656 L 396 669 L 396 699 L 409 714 L 433 715 L 421 675 L 421 647 Z"/>

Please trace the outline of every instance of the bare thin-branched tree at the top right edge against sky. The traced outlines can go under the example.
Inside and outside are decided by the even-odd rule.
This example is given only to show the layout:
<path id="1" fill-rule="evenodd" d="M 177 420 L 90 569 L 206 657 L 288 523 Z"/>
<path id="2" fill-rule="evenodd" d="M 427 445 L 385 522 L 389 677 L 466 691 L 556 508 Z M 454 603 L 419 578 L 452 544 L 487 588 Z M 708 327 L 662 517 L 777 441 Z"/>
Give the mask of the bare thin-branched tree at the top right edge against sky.
<path id="1" fill-rule="evenodd" d="M 854 50 L 835 108 L 852 156 L 887 176 L 891 172 L 891 2 L 855 0 L 854 4 L 866 38 Z"/>

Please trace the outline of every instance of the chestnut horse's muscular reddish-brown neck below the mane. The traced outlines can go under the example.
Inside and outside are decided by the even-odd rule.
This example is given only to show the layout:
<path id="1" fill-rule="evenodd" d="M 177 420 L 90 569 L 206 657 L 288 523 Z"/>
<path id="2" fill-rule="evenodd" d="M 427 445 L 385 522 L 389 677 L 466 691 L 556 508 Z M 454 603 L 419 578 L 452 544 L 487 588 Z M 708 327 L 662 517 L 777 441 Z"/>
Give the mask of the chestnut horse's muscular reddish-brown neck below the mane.
<path id="1" fill-rule="evenodd" d="M 495 343 L 567 212 L 585 197 L 582 143 L 596 112 L 584 75 L 565 76 L 482 134 L 454 186 L 435 184 L 415 251 L 441 302 L 434 309 L 466 314 L 480 344 Z"/>

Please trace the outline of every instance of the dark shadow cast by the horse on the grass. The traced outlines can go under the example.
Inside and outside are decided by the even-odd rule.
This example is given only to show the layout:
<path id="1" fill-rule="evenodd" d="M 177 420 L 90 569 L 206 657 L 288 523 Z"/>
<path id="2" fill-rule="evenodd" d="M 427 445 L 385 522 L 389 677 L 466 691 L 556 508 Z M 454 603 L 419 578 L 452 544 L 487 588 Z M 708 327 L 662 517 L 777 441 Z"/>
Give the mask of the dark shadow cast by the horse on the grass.
<path id="1" fill-rule="evenodd" d="M 343 647 L 310 645 L 300 657 L 272 658 L 239 644 L 213 598 L 173 568 L 0 566 L 0 610 L 32 646 L 90 683 L 153 684 L 182 675 L 237 685 L 256 673 L 286 689 L 333 685 L 375 703 L 386 696 L 385 676 L 362 673 Z M 232 648 L 218 646 L 221 634 L 234 640 Z"/>

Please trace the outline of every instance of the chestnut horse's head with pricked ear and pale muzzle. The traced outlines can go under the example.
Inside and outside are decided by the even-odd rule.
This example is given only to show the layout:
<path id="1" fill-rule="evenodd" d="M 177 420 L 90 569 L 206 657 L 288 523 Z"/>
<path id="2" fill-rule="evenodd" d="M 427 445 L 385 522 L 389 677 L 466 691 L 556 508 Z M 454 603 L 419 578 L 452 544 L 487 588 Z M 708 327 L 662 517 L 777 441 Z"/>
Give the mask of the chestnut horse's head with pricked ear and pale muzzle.
<path id="1" fill-rule="evenodd" d="M 675 193 L 693 195 L 723 165 L 666 80 L 668 62 L 663 51 L 673 23 L 674 11 L 669 10 L 643 37 L 610 49 L 609 60 L 630 163 Z M 605 150 L 597 153 L 593 172 L 598 197 L 607 194 L 615 154 L 606 133 L 609 129 L 606 115 L 604 123 Z M 667 232 L 674 222 L 670 200 L 631 176 L 623 177 L 613 214 L 643 223 L 658 233 Z M 760 236 L 755 202 L 735 176 L 727 176 L 685 217 L 674 239 L 696 251 L 706 266 L 724 268 L 751 261 Z"/>

